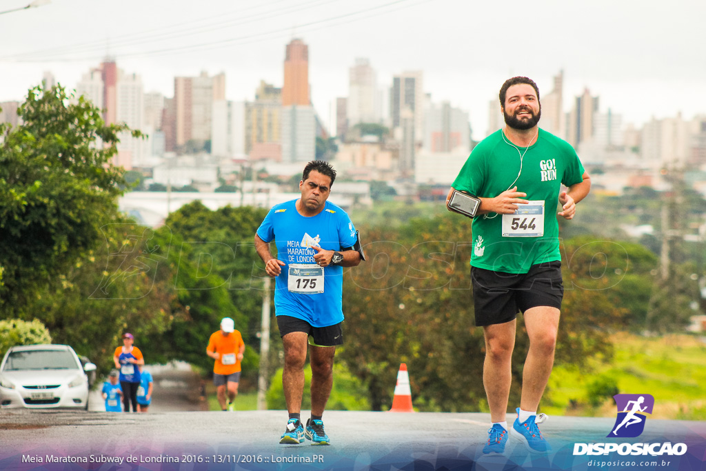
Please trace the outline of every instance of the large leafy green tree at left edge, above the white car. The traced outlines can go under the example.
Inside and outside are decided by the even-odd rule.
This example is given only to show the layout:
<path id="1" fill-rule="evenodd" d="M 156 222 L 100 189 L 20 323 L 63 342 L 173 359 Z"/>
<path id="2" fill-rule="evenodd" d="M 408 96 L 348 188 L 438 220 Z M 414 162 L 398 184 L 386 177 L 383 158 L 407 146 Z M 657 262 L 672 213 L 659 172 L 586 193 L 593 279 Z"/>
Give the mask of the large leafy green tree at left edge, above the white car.
<path id="1" fill-rule="evenodd" d="M 29 90 L 18 114 L 23 124 L 1 131 L 0 309 L 22 318 L 116 214 L 126 181 L 111 161 L 127 127 L 106 126 L 99 109 L 60 85 Z"/>

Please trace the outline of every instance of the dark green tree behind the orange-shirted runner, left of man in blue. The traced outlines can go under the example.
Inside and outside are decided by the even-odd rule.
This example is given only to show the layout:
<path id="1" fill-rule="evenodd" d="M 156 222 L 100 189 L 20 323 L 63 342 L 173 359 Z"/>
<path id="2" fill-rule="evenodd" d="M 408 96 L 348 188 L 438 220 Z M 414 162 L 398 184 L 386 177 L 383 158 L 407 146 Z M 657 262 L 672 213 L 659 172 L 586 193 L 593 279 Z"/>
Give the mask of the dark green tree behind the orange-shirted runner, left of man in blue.
<path id="1" fill-rule="evenodd" d="M 249 347 L 243 376 L 256 377 L 258 357 L 249 355 L 259 350 L 261 278 L 265 274 L 253 237 L 265 215 L 266 210 L 249 206 L 210 210 L 201 201 L 184 205 L 169 215 L 160 231 L 167 227 L 172 230 L 179 240 L 175 247 L 179 260 L 188 262 L 191 271 L 179 268 L 176 280 L 179 302 L 189 306 L 189 320 L 174 322 L 167 333 L 165 349 L 184 345 L 189 349 L 190 361 L 210 369 L 213 360 L 204 353 L 208 336 L 218 329 L 220 318 L 231 316 Z M 205 280 L 210 280 L 208 290 L 201 287 Z M 275 332 L 272 335 L 274 342 L 277 336 Z"/>

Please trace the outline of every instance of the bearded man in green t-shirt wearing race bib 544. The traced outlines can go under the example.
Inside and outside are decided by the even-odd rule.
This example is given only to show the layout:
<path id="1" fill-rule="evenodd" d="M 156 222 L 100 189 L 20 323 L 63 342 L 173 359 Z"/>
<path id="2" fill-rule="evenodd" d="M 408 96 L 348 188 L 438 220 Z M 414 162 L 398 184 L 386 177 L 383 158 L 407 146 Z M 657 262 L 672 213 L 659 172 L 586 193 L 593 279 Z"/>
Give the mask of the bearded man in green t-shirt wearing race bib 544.
<path id="1" fill-rule="evenodd" d="M 504 453 L 508 439 L 505 413 L 518 311 L 525 317 L 530 350 L 510 434 L 530 452 L 547 453 L 551 447 L 537 427 L 546 416 L 538 419 L 537 409 L 554 365 L 563 297 L 556 215 L 572 219 L 591 183 L 575 150 L 537 126 L 542 112 L 534 81 L 505 81 L 500 104 L 505 127 L 473 149 L 448 198 L 457 190 L 480 200 L 472 223 L 471 275 L 475 323 L 483 327 L 486 343 L 483 383 L 493 422 L 483 453 Z M 557 203 L 561 208 L 555 215 Z"/>

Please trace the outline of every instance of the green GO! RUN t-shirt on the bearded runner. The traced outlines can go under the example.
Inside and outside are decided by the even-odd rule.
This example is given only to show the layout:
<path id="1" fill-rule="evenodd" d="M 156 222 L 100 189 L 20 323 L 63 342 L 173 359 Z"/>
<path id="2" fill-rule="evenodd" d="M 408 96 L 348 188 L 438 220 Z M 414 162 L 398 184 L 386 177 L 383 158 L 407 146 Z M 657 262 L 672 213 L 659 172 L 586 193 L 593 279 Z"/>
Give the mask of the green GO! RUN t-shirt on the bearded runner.
<path id="1" fill-rule="evenodd" d="M 487 213 L 474 217 L 471 265 L 505 273 L 527 273 L 537 263 L 561 260 L 556 220 L 559 190 L 561 184 L 571 186 L 583 181 L 583 173 L 571 145 L 542 129 L 530 148 L 511 145 L 502 129 L 481 141 L 463 165 L 453 188 L 481 198 L 495 198 L 517 186 L 517 191 L 527 193 L 522 199 L 532 203 L 519 205 L 513 215 Z"/>

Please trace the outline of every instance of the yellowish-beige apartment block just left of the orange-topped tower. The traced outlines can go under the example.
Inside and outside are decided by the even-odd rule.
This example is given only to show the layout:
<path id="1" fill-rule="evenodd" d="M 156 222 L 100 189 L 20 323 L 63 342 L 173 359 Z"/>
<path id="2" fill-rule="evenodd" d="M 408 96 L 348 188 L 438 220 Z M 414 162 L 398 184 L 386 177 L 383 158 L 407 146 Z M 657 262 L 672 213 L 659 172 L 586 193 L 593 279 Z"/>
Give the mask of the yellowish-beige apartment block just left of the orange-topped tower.
<path id="1" fill-rule="evenodd" d="M 282 89 L 260 81 L 245 110 L 245 153 L 253 160 L 282 160 Z"/>

